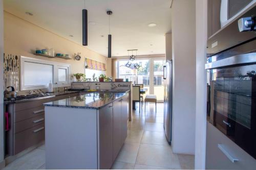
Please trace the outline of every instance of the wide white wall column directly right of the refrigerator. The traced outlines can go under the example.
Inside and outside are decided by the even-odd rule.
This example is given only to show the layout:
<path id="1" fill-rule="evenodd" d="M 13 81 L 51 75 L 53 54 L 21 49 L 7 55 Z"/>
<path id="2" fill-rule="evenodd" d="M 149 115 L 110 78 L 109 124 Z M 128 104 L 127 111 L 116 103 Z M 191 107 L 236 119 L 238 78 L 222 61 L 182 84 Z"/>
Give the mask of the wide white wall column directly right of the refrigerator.
<path id="1" fill-rule="evenodd" d="M 196 1 L 173 0 L 173 126 L 174 153 L 195 154 Z"/>

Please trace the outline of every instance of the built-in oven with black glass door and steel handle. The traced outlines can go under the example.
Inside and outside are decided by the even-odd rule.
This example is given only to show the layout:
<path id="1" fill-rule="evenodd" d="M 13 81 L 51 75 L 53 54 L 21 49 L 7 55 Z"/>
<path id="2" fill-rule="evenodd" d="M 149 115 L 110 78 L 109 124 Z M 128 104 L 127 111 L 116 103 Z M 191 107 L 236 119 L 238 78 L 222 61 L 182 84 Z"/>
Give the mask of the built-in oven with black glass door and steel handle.
<path id="1" fill-rule="evenodd" d="M 256 159 L 256 6 L 207 41 L 207 121 Z M 253 26 L 246 28 L 246 19 Z"/>

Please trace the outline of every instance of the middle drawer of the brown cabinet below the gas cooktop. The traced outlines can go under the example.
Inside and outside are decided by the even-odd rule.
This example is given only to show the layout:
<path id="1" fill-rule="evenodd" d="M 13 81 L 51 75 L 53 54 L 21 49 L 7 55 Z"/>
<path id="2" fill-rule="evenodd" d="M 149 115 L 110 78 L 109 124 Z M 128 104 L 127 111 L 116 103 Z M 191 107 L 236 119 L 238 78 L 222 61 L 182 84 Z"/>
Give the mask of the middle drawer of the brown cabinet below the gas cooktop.
<path id="1" fill-rule="evenodd" d="M 15 133 L 22 132 L 39 124 L 45 124 L 45 114 L 22 120 L 14 124 Z"/>

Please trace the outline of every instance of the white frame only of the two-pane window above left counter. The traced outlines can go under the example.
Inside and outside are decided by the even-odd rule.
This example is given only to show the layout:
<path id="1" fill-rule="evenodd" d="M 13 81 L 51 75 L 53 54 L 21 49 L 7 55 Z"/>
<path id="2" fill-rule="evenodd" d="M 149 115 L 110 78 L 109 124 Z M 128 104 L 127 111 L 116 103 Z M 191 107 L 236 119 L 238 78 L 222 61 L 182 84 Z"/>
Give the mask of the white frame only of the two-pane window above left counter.
<path id="1" fill-rule="evenodd" d="M 20 91 L 24 90 L 36 90 L 36 89 L 45 89 L 48 88 L 47 85 L 31 85 L 31 86 L 25 86 L 24 78 L 24 63 L 25 62 L 32 62 L 32 63 L 38 63 L 38 64 L 47 64 L 53 66 L 53 87 L 67 87 L 71 86 L 71 65 L 66 63 L 59 63 L 54 61 L 48 61 L 48 60 L 41 60 L 41 59 L 35 59 L 31 57 L 25 57 L 20 56 Z M 67 81 L 66 82 L 59 82 L 58 81 L 58 68 L 67 68 Z"/>

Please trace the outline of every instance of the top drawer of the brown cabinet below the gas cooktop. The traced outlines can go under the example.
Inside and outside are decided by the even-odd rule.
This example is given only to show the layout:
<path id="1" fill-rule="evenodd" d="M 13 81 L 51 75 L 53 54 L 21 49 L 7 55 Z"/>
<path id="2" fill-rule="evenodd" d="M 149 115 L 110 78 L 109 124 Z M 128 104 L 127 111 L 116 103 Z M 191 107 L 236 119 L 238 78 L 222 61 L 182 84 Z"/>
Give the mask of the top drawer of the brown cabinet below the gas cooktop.
<path id="1" fill-rule="evenodd" d="M 45 114 L 45 107 L 42 105 L 39 107 L 27 109 L 27 110 L 16 111 L 14 122 L 16 123 L 16 122 L 19 122 L 19 121 L 22 121 L 22 120 L 25 120 L 28 118 L 36 117 L 41 114 Z"/>

